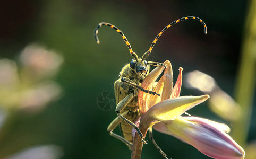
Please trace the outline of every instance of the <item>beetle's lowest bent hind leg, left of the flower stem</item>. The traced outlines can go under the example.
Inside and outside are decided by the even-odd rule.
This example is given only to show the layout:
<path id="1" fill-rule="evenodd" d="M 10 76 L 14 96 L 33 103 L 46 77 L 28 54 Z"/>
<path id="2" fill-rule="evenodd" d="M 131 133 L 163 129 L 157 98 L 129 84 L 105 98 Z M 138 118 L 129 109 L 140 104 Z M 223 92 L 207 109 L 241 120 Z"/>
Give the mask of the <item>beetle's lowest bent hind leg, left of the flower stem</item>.
<path id="1" fill-rule="evenodd" d="M 124 116 L 125 114 L 127 114 L 128 111 L 125 111 L 124 113 L 122 113 L 122 115 Z M 129 149 L 132 148 L 132 143 L 129 142 L 128 140 L 126 140 L 124 137 L 117 135 L 115 133 L 113 133 L 113 130 L 119 125 L 119 123 L 122 121 L 122 119 L 120 117 L 116 117 L 108 126 L 107 131 L 109 133 L 109 135 L 117 138 L 118 140 L 121 140 L 121 142 L 123 142 L 124 144 L 126 144 Z"/>

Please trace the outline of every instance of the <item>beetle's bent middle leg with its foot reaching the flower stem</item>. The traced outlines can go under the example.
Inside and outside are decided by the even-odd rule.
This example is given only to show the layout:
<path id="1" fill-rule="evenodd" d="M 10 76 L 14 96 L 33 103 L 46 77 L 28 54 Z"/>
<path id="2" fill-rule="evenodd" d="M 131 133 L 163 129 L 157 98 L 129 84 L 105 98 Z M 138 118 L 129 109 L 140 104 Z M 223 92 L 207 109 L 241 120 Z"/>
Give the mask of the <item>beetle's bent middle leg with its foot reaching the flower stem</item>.
<path id="1" fill-rule="evenodd" d="M 124 109 L 124 107 L 132 100 L 132 98 L 135 96 L 134 93 L 131 93 L 129 95 L 127 95 L 122 101 L 120 101 L 117 106 L 116 106 L 116 113 L 117 116 L 119 116 L 120 118 L 122 118 L 125 122 L 127 122 L 130 126 L 132 126 L 137 133 L 140 135 L 141 141 L 144 144 L 147 144 L 147 142 L 144 140 L 144 136 L 141 134 L 140 129 L 130 120 L 126 119 L 124 116 L 122 116 L 122 114 L 120 114 L 120 112 Z"/>

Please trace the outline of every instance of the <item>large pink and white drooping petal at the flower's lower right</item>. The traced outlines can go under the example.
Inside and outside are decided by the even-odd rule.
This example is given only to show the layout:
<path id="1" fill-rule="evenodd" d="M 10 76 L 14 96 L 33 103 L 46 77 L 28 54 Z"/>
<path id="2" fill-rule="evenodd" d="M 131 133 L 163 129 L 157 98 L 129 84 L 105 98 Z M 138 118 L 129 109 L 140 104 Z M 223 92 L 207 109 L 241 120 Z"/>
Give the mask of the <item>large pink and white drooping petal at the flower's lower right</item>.
<path id="1" fill-rule="evenodd" d="M 163 123 L 157 123 L 153 128 L 181 139 L 212 158 L 244 158 L 244 150 L 219 127 L 220 125 L 203 118 L 177 117 L 165 125 L 166 128 Z"/>

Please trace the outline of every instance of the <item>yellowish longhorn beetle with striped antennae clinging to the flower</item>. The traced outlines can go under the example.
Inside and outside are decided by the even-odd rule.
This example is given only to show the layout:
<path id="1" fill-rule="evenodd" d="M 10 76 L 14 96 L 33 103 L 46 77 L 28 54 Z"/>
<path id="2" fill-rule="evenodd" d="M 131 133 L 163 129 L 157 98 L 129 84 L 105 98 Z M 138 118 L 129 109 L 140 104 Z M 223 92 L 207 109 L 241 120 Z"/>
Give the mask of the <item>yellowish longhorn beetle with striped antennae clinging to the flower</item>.
<path id="1" fill-rule="evenodd" d="M 123 143 L 125 143 L 129 148 L 131 149 L 132 147 L 132 127 L 137 131 L 137 133 L 140 135 L 141 140 L 144 144 L 147 142 L 144 140 L 143 135 L 141 134 L 139 128 L 133 123 L 133 121 L 140 116 L 139 110 L 138 110 L 138 90 L 141 90 L 145 93 L 149 93 L 152 95 L 159 95 L 156 92 L 149 91 L 149 90 L 144 90 L 140 85 L 144 78 L 149 74 L 149 65 L 153 66 L 158 66 L 158 67 L 165 67 L 166 66 L 162 63 L 158 62 L 153 62 L 153 61 L 146 61 L 145 59 L 149 56 L 151 53 L 153 47 L 156 44 L 156 41 L 158 38 L 163 34 L 167 29 L 169 29 L 172 25 L 177 24 L 178 22 L 184 21 L 184 20 L 198 20 L 203 24 L 204 27 L 204 33 L 207 33 L 207 27 L 206 24 L 199 18 L 195 16 L 187 16 L 187 17 L 182 17 L 181 19 L 178 19 L 176 21 L 173 21 L 169 25 L 167 25 L 160 33 L 157 34 L 157 37 L 155 40 L 153 40 L 150 48 L 148 51 L 146 51 L 141 58 L 136 55 L 135 52 L 133 52 L 132 47 L 130 43 L 128 42 L 127 38 L 124 36 L 123 32 L 118 29 L 115 25 L 112 25 L 110 23 L 105 23 L 101 22 L 98 24 L 94 31 L 94 36 L 99 43 L 99 38 L 98 38 L 98 29 L 105 25 L 109 26 L 113 29 L 115 29 L 118 33 L 121 34 L 122 38 L 124 39 L 126 46 L 128 47 L 130 54 L 133 56 L 134 59 L 131 60 L 130 64 L 126 64 L 121 72 L 120 72 L 120 78 L 115 81 L 114 87 L 115 87 L 115 97 L 116 97 L 116 113 L 117 113 L 117 118 L 115 118 L 110 125 L 107 128 L 108 133 L 121 140 Z M 121 131 L 122 131 L 122 136 L 117 135 L 113 133 L 113 130 L 120 125 Z M 153 140 L 152 137 L 152 129 L 149 130 L 149 136 L 150 139 L 152 140 L 153 144 L 159 149 L 160 153 L 165 157 L 165 153 L 161 151 L 161 149 L 157 146 L 155 140 Z"/>

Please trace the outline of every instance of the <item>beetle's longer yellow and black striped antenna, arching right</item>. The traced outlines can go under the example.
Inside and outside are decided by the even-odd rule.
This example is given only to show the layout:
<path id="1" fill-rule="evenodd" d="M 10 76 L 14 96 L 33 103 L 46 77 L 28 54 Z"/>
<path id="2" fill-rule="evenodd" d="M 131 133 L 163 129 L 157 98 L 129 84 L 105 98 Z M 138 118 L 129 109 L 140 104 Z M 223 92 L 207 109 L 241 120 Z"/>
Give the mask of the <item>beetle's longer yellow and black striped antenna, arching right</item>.
<path id="1" fill-rule="evenodd" d="M 161 36 L 161 34 L 163 34 L 167 29 L 169 29 L 172 25 L 177 24 L 178 22 L 184 21 L 184 20 L 189 20 L 189 19 L 194 19 L 194 20 L 198 20 L 203 24 L 204 27 L 204 33 L 207 33 L 207 27 L 206 27 L 206 23 L 204 23 L 199 17 L 195 17 L 195 16 L 187 16 L 187 17 L 182 17 L 181 19 L 178 19 L 176 21 L 173 21 L 172 23 L 170 23 L 169 25 L 167 25 L 159 34 L 157 34 L 157 37 L 155 38 L 155 40 L 152 42 L 149 50 L 147 52 L 145 52 L 142 56 L 142 60 L 146 59 L 147 56 L 149 56 L 149 54 L 151 53 L 153 47 L 155 46 L 157 39 Z"/>

